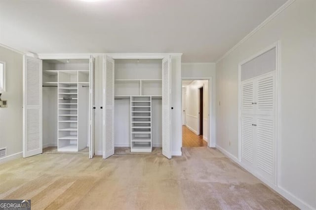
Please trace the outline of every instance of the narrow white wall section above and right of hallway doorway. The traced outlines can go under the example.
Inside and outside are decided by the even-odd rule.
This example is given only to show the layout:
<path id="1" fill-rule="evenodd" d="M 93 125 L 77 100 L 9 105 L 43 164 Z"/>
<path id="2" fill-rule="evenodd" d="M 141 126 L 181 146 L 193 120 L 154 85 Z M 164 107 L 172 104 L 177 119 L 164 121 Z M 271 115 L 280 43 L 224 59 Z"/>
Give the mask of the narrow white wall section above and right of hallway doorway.
<path id="1" fill-rule="evenodd" d="M 211 105 L 210 119 L 208 124 L 208 131 L 210 132 L 209 146 L 215 147 L 215 93 L 216 93 L 216 64 L 215 63 L 183 63 L 181 65 L 182 79 L 197 80 L 210 79 L 208 84 L 208 91 L 210 91 L 208 99 Z M 188 118 L 187 118 L 188 121 Z M 205 122 L 205 120 L 204 120 Z M 205 123 L 204 123 L 205 124 Z M 203 132 L 204 133 L 204 132 Z M 205 136 L 205 135 L 203 135 Z M 205 137 L 206 138 L 206 137 Z"/>

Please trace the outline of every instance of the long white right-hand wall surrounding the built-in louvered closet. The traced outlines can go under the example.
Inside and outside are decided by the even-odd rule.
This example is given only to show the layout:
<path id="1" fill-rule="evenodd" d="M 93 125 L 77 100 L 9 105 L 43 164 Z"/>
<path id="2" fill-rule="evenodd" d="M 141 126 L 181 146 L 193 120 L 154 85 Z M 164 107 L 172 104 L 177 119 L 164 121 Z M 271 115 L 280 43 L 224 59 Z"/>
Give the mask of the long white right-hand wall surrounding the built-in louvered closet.
<path id="1" fill-rule="evenodd" d="M 227 154 L 237 158 L 238 63 L 278 40 L 281 70 L 279 180 L 276 190 L 302 209 L 315 209 L 315 0 L 294 1 L 216 64 L 216 143 Z"/>

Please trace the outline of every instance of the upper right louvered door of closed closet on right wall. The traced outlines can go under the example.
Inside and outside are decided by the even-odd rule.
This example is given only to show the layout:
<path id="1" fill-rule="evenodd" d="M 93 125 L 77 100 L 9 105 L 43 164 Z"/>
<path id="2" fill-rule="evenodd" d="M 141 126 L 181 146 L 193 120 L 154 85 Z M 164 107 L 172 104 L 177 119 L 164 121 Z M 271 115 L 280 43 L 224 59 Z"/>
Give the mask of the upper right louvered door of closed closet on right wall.
<path id="1" fill-rule="evenodd" d="M 275 115 L 275 71 L 256 79 L 256 110 L 258 115 Z"/>

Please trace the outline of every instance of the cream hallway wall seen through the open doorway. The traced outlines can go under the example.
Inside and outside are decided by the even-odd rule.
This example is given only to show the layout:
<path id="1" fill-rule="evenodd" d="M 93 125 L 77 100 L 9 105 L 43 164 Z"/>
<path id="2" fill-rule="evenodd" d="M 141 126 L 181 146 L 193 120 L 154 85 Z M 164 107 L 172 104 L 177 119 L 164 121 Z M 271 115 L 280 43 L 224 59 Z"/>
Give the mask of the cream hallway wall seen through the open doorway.
<path id="1" fill-rule="evenodd" d="M 189 85 L 185 86 L 185 104 L 186 104 L 186 126 L 198 135 L 199 122 L 199 100 L 198 100 L 198 88 L 203 87 L 203 139 L 207 140 L 208 137 L 208 80 L 194 80 Z"/>

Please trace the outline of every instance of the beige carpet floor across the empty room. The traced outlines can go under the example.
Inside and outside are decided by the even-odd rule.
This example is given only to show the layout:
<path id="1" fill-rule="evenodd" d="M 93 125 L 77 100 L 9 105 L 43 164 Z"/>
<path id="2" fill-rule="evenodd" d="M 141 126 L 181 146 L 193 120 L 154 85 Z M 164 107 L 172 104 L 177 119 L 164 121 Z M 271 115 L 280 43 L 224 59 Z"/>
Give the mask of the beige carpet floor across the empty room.
<path id="1" fill-rule="evenodd" d="M 216 149 L 183 156 L 41 154 L 0 165 L 0 199 L 32 210 L 297 209 Z"/>

